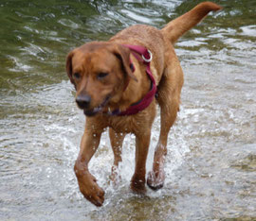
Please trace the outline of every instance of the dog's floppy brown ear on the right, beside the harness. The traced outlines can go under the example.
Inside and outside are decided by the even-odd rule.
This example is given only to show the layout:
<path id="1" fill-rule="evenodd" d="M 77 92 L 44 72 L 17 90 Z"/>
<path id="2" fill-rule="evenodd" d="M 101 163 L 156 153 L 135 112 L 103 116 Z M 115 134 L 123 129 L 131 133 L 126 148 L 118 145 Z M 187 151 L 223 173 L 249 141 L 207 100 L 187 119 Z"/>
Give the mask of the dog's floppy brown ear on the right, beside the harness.
<path id="1" fill-rule="evenodd" d="M 130 49 L 122 45 L 116 45 L 114 48 L 114 54 L 120 60 L 122 69 L 127 76 L 130 76 L 132 79 L 137 81 L 137 77 L 134 75 L 130 67 Z"/>

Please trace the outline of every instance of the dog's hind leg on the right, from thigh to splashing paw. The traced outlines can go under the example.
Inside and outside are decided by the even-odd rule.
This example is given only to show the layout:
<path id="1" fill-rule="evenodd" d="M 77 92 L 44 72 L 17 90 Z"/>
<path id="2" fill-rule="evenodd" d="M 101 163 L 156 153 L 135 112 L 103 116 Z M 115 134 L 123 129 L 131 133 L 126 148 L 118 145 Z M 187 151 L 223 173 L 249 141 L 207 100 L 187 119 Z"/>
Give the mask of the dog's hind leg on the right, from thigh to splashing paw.
<path id="1" fill-rule="evenodd" d="M 165 173 L 164 164 L 167 154 L 167 140 L 170 128 L 174 125 L 179 110 L 180 91 L 183 85 L 183 73 L 178 59 L 172 55 L 162 79 L 158 85 L 157 101 L 161 110 L 161 129 L 155 147 L 153 170 L 148 174 L 147 184 L 157 190 L 163 187 Z"/>

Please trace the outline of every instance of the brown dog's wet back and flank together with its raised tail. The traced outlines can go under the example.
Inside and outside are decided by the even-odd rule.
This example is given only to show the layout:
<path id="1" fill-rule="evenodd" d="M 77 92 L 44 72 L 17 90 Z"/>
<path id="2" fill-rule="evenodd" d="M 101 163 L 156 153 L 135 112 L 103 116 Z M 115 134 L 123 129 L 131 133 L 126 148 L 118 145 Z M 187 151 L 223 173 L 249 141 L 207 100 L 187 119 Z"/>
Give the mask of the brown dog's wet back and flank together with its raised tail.
<path id="1" fill-rule="evenodd" d="M 154 26 L 136 25 L 129 26 L 113 36 L 109 42 L 118 42 L 120 44 L 137 44 L 143 45 L 150 49 L 153 53 L 152 69 L 155 76 L 155 81 L 158 84 L 164 69 L 167 59 L 164 58 L 165 52 L 174 52 L 174 43 L 193 26 L 196 26 L 210 12 L 221 9 L 220 6 L 212 2 L 203 2 L 187 13 L 174 19 L 161 30 Z M 175 55 L 174 55 L 175 56 Z"/>

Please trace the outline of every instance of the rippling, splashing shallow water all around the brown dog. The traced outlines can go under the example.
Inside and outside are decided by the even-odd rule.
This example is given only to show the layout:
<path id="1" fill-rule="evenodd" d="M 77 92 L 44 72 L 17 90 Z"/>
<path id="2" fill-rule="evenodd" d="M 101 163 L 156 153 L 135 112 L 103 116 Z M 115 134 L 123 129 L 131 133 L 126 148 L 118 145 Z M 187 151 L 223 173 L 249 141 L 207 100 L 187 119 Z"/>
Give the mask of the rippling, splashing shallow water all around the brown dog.
<path id="1" fill-rule="evenodd" d="M 199 1 L 0 1 L 1 220 L 255 220 L 255 0 L 216 1 L 176 44 L 185 73 L 162 190 L 133 195 L 134 136 L 121 181 L 109 182 L 107 133 L 90 163 L 106 191 L 96 208 L 79 192 L 73 164 L 84 116 L 64 71 L 67 52 L 134 24 L 162 27 Z M 147 169 L 153 161 L 155 120 Z M 132 165 L 132 166 L 131 166 Z"/>

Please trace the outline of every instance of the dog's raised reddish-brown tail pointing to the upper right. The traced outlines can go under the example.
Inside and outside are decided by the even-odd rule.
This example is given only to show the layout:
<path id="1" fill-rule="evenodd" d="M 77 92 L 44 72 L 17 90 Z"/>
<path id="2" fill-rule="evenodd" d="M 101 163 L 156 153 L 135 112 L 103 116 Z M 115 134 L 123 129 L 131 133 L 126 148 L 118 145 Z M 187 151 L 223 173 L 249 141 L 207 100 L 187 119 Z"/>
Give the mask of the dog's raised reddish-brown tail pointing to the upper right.
<path id="1" fill-rule="evenodd" d="M 161 29 L 161 32 L 174 44 L 179 37 L 190 30 L 192 26 L 198 24 L 210 11 L 219 9 L 221 9 L 221 7 L 212 2 L 200 3 L 187 13 L 168 23 Z"/>

